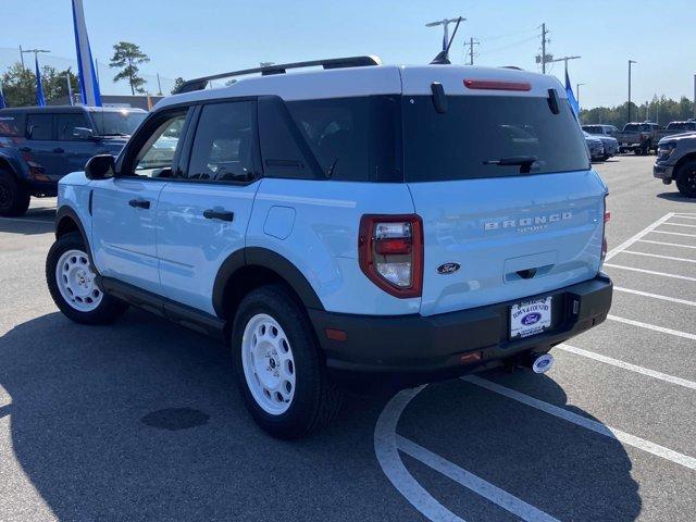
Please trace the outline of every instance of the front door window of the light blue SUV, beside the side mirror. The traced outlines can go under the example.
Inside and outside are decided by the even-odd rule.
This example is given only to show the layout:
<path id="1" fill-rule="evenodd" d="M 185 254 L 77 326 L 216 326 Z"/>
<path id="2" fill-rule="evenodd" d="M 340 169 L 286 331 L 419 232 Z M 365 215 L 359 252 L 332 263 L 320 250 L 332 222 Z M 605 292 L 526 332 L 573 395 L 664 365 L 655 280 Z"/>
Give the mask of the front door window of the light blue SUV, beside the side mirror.
<path id="1" fill-rule="evenodd" d="M 157 126 L 135 158 L 133 174 L 146 177 L 171 177 L 176 147 L 186 112 L 176 113 Z"/>

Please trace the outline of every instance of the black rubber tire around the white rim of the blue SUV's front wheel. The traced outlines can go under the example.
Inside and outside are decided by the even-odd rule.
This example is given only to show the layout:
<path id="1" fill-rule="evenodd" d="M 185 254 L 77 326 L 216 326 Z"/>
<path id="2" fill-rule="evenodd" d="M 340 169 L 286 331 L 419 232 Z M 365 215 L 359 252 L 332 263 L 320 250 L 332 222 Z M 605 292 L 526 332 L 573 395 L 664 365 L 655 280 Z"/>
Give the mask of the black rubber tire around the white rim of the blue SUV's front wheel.
<path id="1" fill-rule="evenodd" d="M 87 257 L 87 247 L 83 240 L 83 236 L 78 232 L 72 232 L 59 237 L 51 246 L 46 258 L 46 282 L 51 293 L 53 302 L 63 314 L 80 324 L 109 324 L 115 321 L 123 312 L 126 311 L 128 304 L 116 299 L 115 297 L 102 294 L 101 302 L 90 311 L 82 311 L 71 304 L 61 294 L 57 281 L 58 262 L 69 250 L 79 250 Z M 90 270 L 87 265 L 87 270 Z M 99 289 L 96 285 L 95 288 Z"/>

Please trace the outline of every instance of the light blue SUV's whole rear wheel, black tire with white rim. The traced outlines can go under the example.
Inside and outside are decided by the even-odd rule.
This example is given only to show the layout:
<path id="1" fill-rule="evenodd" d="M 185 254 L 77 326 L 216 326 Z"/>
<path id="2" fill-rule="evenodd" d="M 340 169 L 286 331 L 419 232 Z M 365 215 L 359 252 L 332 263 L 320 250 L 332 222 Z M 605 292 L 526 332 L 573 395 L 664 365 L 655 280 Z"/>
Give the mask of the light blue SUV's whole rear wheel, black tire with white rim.
<path id="1" fill-rule="evenodd" d="M 319 431 L 341 394 L 330 381 L 309 320 L 282 286 L 263 286 L 240 302 L 232 349 L 239 388 L 254 421 L 279 438 Z"/>

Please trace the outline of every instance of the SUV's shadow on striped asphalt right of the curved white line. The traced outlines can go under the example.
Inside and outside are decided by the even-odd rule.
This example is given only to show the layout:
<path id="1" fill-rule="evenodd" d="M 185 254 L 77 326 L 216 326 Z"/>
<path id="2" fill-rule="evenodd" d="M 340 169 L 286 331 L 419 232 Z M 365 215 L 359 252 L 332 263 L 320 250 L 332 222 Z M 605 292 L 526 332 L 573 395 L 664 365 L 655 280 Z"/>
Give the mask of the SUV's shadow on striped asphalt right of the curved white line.
<path id="1" fill-rule="evenodd" d="M 568 405 L 548 376 L 477 376 L 600 422 Z M 425 388 L 403 412 L 399 433 L 558 520 L 633 521 L 642 510 L 620 443 L 467 381 Z M 413 469 L 426 489 L 450 500 L 447 509 L 465 520 L 504 520 L 501 508 Z"/>

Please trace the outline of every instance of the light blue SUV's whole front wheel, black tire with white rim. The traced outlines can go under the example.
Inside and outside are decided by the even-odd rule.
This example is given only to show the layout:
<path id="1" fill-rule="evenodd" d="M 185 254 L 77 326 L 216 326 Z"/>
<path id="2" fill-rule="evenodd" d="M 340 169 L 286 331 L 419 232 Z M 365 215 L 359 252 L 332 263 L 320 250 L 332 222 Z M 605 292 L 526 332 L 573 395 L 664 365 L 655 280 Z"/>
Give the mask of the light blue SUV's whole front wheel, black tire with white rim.
<path id="1" fill-rule="evenodd" d="M 111 323 L 128 308 L 105 295 L 95 276 L 79 233 L 55 240 L 46 258 L 46 281 L 58 308 L 76 323 Z"/>

